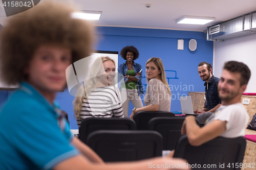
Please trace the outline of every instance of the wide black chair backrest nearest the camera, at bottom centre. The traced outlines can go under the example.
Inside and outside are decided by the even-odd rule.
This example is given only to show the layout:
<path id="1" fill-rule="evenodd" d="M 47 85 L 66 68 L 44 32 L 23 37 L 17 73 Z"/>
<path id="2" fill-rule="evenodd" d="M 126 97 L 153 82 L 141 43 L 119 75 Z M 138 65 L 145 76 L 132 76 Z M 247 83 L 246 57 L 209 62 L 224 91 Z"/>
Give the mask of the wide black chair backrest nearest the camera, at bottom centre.
<path id="1" fill-rule="evenodd" d="M 155 131 L 100 130 L 87 144 L 105 162 L 134 161 L 162 156 L 162 136 Z"/>

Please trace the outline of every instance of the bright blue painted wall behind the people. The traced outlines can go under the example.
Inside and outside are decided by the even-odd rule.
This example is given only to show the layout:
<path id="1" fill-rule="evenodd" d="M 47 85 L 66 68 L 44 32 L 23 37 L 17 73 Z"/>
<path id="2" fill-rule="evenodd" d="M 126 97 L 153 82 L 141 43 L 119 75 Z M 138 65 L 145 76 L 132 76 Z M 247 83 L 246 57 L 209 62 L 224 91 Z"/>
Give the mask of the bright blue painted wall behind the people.
<path id="1" fill-rule="evenodd" d="M 151 57 L 159 57 L 164 63 L 165 70 L 174 70 L 177 72 L 178 79 L 175 78 L 175 72 L 167 72 L 169 86 L 172 90 L 172 103 L 170 111 L 181 111 L 179 97 L 187 95 L 188 91 L 204 91 L 203 81 L 198 75 L 197 66 L 201 61 L 212 63 L 213 61 L 213 42 L 203 39 L 202 32 L 158 30 L 158 29 L 136 29 L 136 28 L 116 28 L 116 27 L 97 27 L 97 45 L 95 50 L 100 51 L 118 51 L 126 45 L 134 45 L 138 48 L 140 56 L 136 60 L 142 65 L 143 76 L 145 75 L 145 63 Z M 177 50 L 178 39 L 184 40 L 184 50 Z M 191 52 L 188 49 L 190 39 L 197 40 L 197 49 Z M 118 58 L 118 64 L 125 62 L 121 57 Z M 146 80 L 142 80 L 146 84 Z M 189 89 L 190 87 L 190 89 Z M 4 91 L 0 93 L 0 106 L 7 99 L 8 94 Z M 73 117 L 71 96 L 66 89 L 59 92 L 56 97 L 61 108 L 69 114 L 71 129 L 78 129 L 76 120 Z M 133 109 L 129 106 L 129 114 Z"/>

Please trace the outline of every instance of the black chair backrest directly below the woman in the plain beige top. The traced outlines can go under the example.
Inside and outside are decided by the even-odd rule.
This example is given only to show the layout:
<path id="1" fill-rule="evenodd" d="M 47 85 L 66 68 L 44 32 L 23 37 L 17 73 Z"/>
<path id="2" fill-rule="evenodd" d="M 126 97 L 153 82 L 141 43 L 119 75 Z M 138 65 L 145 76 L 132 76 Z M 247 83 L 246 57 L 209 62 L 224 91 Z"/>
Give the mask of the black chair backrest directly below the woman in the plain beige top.
<path id="1" fill-rule="evenodd" d="M 154 117 L 174 117 L 175 114 L 173 112 L 168 111 L 157 111 L 157 112 L 147 112 L 140 111 L 134 115 L 134 121 L 136 123 L 137 130 L 147 130 L 148 122 L 150 119 Z"/>

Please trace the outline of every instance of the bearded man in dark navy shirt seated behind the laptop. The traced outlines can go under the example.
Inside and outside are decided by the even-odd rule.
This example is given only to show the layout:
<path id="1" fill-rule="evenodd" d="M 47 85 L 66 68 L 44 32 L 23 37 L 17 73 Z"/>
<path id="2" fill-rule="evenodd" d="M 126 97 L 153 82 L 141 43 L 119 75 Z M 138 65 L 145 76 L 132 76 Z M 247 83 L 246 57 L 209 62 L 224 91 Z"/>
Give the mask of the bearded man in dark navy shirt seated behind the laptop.
<path id="1" fill-rule="evenodd" d="M 220 79 L 212 75 L 212 66 L 210 63 L 205 61 L 199 63 L 198 73 L 201 79 L 205 81 L 204 86 L 206 101 L 204 103 L 204 108 L 202 110 L 195 110 L 194 113 L 202 114 L 205 112 L 214 112 L 221 105 L 221 99 L 219 98 L 217 89 Z M 211 113 L 209 113 L 208 116 L 210 114 Z"/>

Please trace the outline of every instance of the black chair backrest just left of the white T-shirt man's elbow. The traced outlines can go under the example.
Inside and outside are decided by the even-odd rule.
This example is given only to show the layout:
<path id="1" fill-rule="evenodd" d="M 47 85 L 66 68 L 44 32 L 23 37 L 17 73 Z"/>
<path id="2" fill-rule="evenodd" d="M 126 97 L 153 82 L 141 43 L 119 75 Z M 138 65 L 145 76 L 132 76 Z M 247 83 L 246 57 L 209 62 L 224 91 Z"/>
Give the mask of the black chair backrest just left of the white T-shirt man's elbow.
<path id="1" fill-rule="evenodd" d="M 163 150 L 173 150 L 181 136 L 181 127 L 185 117 L 155 117 L 148 122 L 148 130 L 159 132 L 163 136 Z"/>

